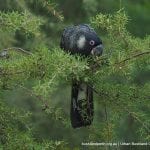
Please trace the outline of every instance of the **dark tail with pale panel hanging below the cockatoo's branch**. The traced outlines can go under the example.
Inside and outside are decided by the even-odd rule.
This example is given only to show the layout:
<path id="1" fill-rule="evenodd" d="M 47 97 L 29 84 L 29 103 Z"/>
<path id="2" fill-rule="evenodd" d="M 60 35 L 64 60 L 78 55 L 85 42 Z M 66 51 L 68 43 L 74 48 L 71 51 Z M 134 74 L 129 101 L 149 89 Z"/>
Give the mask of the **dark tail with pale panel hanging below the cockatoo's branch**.
<path id="1" fill-rule="evenodd" d="M 72 82 L 71 124 L 73 128 L 91 125 L 94 104 L 92 87 L 77 81 Z"/>

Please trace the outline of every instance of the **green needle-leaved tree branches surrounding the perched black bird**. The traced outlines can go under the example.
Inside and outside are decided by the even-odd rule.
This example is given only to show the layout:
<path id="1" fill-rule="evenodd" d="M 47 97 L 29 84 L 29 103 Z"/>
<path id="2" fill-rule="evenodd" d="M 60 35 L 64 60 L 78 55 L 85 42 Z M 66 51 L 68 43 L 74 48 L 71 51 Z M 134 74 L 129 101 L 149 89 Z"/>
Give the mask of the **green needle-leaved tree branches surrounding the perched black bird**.
<path id="1" fill-rule="evenodd" d="M 97 139 L 102 142 L 149 141 L 150 36 L 141 39 L 131 35 L 127 30 L 129 19 L 123 9 L 112 14 L 99 13 L 91 18 L 90 23 L 97 31 L 103 31 L 105 53 L 89 61 L 90 58 L 72 56 L 49 44 L 49 35 L 44 32 L 55 26 L 56 18 L 63 21 L 54 4 L 47 0 L 17 1 L 17 4 L 17 10 L 0 12 L 0 32 L 6 38 L 11 35 L 7 39 L 8 44 L 3 42 L 0 51 L 0 148 L 79 149 L 77 144 Z M 33 4 L 37 7 L 33 8 Z M 44 17 L 49 13 L 55 16 L 50 25 L 47 24 L 49 19 Z M 63 27 L 64 24 L 54 29 L 57 31 Z M 89 67 L 91 65 L 94 72 Z M 69 96 L 62 96 L 70 92 L 68 85 L 74 77 L 94 85 L 96 109 L 93 125 L 76 133 L 70 127 L 64 105 L 67 103 L 64 99 Z M 65 86 L 67 88 L 63 93 Z M 29 99 L 34 97 L 31 109 L 34 105 L 43 105 L 43 112 L 40 113 L 49 117 L 47 123 L 40 116 L 45 121 L 43 124 L 47 124 L 44 127 L 60 128 L 62 133 L 50 130 L 49 134 L 54 138 L 43 141 L 37 135 L 38 129 L 30 126 L 31 122 L 35 125 L 34 121 L 30 121 L 36 118 L 35 114 L 28 116 L 28 112 L 14 110 L 5 100 L 6 91 L 18 89 Z M 55 101 L 58 91 L 62 95 Z M 35 112 L 38 113 L 39 109 Z"/>

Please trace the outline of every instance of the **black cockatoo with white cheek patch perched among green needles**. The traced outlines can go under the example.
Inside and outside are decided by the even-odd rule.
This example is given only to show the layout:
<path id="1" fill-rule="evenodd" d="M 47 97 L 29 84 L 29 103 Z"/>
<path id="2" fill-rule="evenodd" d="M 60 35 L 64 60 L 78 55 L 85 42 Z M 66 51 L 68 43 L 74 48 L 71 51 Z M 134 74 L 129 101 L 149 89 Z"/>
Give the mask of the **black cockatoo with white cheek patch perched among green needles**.
<path id="1" fill-rule="evenodd" d="M 101 55 L 103 45 L 96 32 L 87 24 L 64 29 L 60 47 L 71 54 Z M 91 125 L 94 104 L 92 87 L 82 81 L 72 80 L 71 124 L 73 128 Z"/>

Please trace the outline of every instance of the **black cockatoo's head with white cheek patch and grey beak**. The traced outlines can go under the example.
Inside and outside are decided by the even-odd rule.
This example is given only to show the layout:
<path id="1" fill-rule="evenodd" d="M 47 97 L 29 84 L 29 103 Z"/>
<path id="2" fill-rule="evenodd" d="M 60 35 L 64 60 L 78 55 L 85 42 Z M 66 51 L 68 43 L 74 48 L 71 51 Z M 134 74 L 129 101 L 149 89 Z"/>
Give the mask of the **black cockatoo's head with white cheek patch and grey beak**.
<path id="1" fill-rule="evenodd" d="M 79 53 L 86 56 L 100 56 L 103 52 L 102 40 L 95 32 L 83 33 L 79 35 L 77 40 L 77 47 L 80 50 Z"/>

